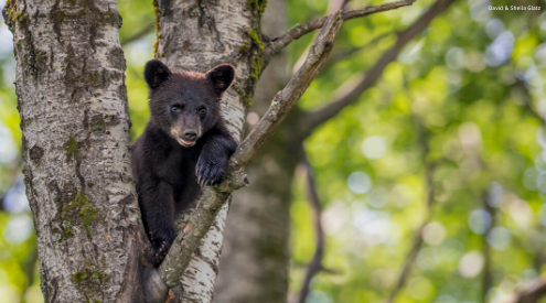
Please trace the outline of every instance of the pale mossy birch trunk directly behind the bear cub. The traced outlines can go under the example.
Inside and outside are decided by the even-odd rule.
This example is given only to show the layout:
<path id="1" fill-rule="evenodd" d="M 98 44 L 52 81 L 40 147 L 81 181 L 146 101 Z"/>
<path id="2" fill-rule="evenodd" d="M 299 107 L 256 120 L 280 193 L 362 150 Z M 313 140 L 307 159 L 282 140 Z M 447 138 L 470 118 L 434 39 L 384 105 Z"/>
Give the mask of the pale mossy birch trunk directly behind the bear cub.
<path id="1" fill-rule="evenodd" d="M 222 101 L 222 115 L 237 141 L 243 137 L 245 117 L 265 62 L 259 22 L 265 0 L 191 1 L 159 0 L 158 41 L 154 57 L 173 71 L 206 72 L 221 63 L 237 69 L 235 84 Z M 226 204 L 184 272 L 182 302 L 212 302 L 218 271 Z M 179 230 L 188 216 L 178 219 Z"/>

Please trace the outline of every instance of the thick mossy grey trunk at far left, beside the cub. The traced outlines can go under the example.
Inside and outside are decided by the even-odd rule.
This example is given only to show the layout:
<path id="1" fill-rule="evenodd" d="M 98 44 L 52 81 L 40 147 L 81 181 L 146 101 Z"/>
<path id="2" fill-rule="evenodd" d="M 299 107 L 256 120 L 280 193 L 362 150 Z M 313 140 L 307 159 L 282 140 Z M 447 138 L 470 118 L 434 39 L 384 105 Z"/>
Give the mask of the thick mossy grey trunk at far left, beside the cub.
<path id="1" fill-rule="evenodd" d="M 8 1 L 45 302 L 142 302 L 115 0 Z"/>

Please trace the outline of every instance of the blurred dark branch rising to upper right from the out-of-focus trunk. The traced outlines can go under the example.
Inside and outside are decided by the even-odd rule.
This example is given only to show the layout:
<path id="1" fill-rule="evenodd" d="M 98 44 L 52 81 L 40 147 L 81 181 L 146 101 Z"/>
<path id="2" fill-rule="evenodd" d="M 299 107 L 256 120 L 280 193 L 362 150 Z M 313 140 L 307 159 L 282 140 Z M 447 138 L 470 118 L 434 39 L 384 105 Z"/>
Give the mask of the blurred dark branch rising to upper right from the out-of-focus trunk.
<path id="1" fill-rule="evenodd" d="M 385 67 L 396 59 L 402 48 L 404 48 L 409 41 L 422 32 L 432 19 L 448 9 L 454 1 L 456 0 L 438 0 L 414 24 L 405 31 L 398 33 L 398 40 L 395 45 L 383 54 L 375 65 L 366 73 L 364 79 L 362 79 L 352 90 L 347 91 L 338 100 L 324 106 L 323 108 L 307 113 L 301 119 L 302 125 L 300 129 L 302 133 L 306 137 L 309 136 L 315 127 L 333 118 L 346 106 L 356 102 L 358 97 L 372 87 L 372 85 L 381 77 Z"/>

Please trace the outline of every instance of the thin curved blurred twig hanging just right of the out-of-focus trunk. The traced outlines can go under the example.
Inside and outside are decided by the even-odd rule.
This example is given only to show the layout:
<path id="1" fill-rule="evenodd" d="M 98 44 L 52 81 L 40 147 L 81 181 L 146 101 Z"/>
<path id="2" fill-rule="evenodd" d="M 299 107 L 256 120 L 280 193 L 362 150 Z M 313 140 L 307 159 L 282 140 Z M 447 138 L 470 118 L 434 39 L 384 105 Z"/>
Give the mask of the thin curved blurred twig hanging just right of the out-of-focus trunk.
<path id="1" fill-rule="evenodd" d="M 314 185 L 314 177 L 311 164 L 304 159 L 303 164 L 306 166 L 306 184 L 309 204 L 313 209 L 313 220 L 314 220 L 314 232 L 317 237 L 317 249 L 314 250 L 313 259 L 309 262 L 307 267 L 306 277 L 303 278 L 303 283 L 298 295 L 298 303 L 306 302 L 306 297 L 309 294 L 309 284 L 313 277 L 322 271 L 322 257 L 324 256 L 324 231 L 322 230 L 321 223 L 321 206 L 319 201 L 319 194 L 317 192 L 317 186 Z"/>

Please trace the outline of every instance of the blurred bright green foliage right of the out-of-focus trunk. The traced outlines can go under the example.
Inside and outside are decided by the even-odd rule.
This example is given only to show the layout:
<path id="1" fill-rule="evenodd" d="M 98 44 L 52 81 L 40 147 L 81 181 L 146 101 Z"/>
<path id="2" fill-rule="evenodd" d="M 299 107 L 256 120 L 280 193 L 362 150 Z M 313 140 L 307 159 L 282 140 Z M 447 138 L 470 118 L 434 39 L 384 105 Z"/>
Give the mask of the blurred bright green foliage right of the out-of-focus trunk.
<path id="1" fill-rule="evenodd" d="M 362 79 L 395 43 L 394 33 L 431 3 L 417 1 L 345 22 L 332 56 L 350 55 L 328 64 L 299 106 L 314 110 L 351 89 L 349 84 Z M 425 240 L 395 302 L 482 302 L 480 262 L 488 239 L 493 281 L 486 302 L 545 272 L 544 263 L 536 262 L 545 245 L 546 184 L 537 177 L 546 167 L 540 145 L 545 130 L 534 111 L 545 112 L 545 62 L 537 54 L 546 46 L 546 31 L 540 28 L 546 14 L 494 12 L 478 3 L 457 3 L 435 19 L 356 105 L 306 141 L 324 208 L 323 264 L 335 272 L 314 278 L 308 302 L 385 301 L 415 230 L 427 219 L 427 163 L 438 163 L 429 223 L 441 237 Z M 291 25 L 321 17 L 326 4 L 290 1 Z M 496 64 L 491 45 L 501 35 L 508 44 L 513 37 L 513 51 Z M 291 63 L 309 44 L 306 39 L 290 46 Z M 418 121 L 428 137 L 426 154 Z M 349 186 L 355 172 L 370 176 L 372 184 L 365 191 Z M 485 209 L 482 195 L 490 186 L 496 193 L 502 188 L 502 194 L 492 207 L 493 230 L 488 236 L 469 221 L 475 220 L 474 212 Z M 315 239 L 302 175 L 293 191 L 290 292 L 296 294 Z M 507 244 L 499 240 L 506 235 Z M 464 268 L 468 256 L 478 256 L 478 270 L 471 274 Z"/>

